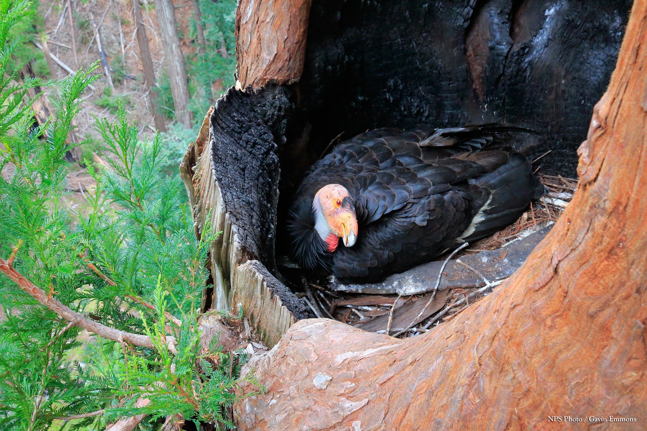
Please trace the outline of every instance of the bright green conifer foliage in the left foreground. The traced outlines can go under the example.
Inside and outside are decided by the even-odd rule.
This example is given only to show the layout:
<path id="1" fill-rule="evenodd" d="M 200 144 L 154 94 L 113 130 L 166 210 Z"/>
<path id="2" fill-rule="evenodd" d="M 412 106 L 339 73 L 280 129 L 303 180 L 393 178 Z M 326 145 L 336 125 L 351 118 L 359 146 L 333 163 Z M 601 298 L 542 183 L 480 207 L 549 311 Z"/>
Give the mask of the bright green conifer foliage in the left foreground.
<path id="1" fill-rule="evenodd" d="M 96 189 L 71 223 L 66 141 L 97 65 L 20 81 L 7 66 L 19 40 L 7 38 L 29 10 L 0 0 L 0 429 L 104 429 L 140 413 L 151 430 L 173 414 L 232 426 L 225 406 L 244 357 L 204 352 L 197 329 L 215 234 L 196 240 L 179 178 L 160 174 L 161 138 L 142 141 L 122 107 L 116 123 L 96 120 L 109 167 L 91 169 Z M 33 128 L 35 85 L 58 97 L 56 117 Z M 107 330 L 149 342 L 116 342 Z M 141 398 L 148 405 L 135 406 Z"/>

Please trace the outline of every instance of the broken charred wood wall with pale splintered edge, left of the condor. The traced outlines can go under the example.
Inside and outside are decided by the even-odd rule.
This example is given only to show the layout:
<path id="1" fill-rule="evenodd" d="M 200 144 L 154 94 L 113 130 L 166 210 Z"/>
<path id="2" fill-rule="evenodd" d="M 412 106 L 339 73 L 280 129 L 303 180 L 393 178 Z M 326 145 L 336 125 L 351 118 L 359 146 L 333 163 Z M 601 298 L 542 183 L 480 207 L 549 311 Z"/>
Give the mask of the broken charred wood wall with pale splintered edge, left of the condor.
<path id="1" fill-rule="evenodd" d="M 203 310 L 242 307 L 270 344 L 297 319 L 311 317 L 305 302 L 275 277 L 276 143 L 285 139 L 291 109 L 287 90 L 231 89 L 204 118 L 180 165 L 196 235 L 205 224 L 222 232 L 210 247 L 214 286 Z"/>

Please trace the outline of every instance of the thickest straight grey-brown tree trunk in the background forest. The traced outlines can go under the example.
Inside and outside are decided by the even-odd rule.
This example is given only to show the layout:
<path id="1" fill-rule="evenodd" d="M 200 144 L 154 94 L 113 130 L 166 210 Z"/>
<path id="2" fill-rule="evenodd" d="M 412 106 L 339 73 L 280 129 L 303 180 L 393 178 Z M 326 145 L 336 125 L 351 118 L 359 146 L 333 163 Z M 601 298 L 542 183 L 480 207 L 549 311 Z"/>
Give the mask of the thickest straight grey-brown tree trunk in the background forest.
<path id="1" fill-rule="evenodd" d="M 184 127 L 190 129 L 193 125 L 193 115 L 188 109 L 189 85 L 184 68 L 184 56 L 180 49 L 180 37 L 177 35 L 173 2 L 171 0 L 155 0 L 155 10 L 162 34 L 164 54 L 166 54 L 166 70 L 171 83 L 175 116 Z"/>

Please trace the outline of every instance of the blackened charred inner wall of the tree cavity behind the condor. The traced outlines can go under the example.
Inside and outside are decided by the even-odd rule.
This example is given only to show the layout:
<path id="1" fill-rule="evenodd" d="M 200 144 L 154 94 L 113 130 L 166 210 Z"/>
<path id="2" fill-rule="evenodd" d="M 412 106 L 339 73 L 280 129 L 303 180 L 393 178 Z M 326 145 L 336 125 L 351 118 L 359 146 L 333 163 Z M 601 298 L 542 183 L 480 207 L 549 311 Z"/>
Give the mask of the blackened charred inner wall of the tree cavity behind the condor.
<path id="1" fill-rule="evenodd" d="M 575 150 L 615 65 L 630 0 L 315 2 L 300 82 L 313 157 L 376 127 L 503 121 L 545 134 L 542 172 Z M 313 160 L 311 160 L 312 162 Z"/>

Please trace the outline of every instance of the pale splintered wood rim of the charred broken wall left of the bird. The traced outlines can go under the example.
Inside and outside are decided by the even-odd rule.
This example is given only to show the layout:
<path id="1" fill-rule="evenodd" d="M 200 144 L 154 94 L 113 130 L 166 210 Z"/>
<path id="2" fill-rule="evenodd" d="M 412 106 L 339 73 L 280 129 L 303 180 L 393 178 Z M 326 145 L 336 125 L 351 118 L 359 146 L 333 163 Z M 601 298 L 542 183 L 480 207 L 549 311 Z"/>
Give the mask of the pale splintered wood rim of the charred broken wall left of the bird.
<path id="1" fill-rule="evenodd" d="M 195 143 L 189 145 L 180 165 L 192 204 L 196 237 L 200 237 L 207 219 L 214 232 L 221 232 L 209 247 L 214 279 L 211 308 L 230 310 L 232 304 L 242 306 L 254 329 L 273 346 L 296 318 L 269 288 L 265 275 L 258 271 L 256 264 L 262 264 L 248 261 L 238 240 L 238 227 L 225 207 L 220 185 L 214 178 L 211 151 L 204 151 L 211 148 L 209 118 L 213 110 L 211 107 L 207 112 Z M 205 303 L 203 295 L 203 310 Z"/>

